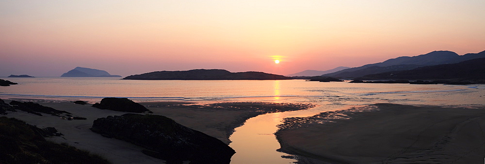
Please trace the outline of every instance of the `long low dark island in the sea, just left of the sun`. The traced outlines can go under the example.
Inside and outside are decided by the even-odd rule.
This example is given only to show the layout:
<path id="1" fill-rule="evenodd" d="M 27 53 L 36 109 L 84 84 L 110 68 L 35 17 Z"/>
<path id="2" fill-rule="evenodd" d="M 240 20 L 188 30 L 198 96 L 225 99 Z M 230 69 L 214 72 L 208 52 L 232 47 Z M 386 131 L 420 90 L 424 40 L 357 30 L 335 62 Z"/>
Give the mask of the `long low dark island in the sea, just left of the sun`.
<path id="1" fill-rule="evenodd" d="M 157 71 L 141 75 L 129 75 L 125 80 L 288 80 L 284 75 L 263 72 L 231 73 L 220 69 L 197 69 L 189 71 Z"/>

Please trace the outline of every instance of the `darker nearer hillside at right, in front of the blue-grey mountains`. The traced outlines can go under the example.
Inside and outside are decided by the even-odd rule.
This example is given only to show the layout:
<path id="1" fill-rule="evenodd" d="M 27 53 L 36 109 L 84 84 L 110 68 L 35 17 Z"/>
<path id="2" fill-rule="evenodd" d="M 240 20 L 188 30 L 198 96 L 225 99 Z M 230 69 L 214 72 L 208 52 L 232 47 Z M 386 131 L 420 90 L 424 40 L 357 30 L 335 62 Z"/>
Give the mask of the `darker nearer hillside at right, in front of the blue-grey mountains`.
<path id="1" fill-rule="evenodd" d="M 358 79 L 456 79 L 457 81 L 480 81 L 485 80 L 485 58 L 453 64 L 425 66 L 413 70 L 365 75 Z"/>

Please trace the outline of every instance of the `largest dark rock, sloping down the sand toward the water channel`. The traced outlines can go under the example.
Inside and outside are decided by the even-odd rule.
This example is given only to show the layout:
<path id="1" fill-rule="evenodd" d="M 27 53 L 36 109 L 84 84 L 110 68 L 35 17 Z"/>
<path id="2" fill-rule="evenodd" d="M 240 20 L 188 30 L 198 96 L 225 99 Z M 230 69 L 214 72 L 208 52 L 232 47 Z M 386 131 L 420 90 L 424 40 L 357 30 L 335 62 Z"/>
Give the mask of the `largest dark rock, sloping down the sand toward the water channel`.
<path id="1" fill-rule="evenodd" d="M 229 164 L 233 149 L 207 134 L 158 115 L 124 114 L 96 119 L 91 130 L 142 146 L 167 163 Z"/>

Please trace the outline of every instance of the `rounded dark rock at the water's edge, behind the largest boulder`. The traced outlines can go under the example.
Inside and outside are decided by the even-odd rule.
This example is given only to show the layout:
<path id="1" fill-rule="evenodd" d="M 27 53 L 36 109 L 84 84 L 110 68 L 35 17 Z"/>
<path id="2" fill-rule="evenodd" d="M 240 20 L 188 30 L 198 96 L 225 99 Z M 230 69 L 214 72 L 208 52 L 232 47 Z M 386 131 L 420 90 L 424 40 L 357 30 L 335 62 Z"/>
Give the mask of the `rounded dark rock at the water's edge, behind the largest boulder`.
<path id="1" fill-rule="evenodd" d="M 101 100 L 101 103 L 93 104 L 93 107 L 99 109 L 109 109 L 121 112 L 143 113 L 149 111 L 145 106 L 135 103 L 127 98 L 107 97 Z"/>

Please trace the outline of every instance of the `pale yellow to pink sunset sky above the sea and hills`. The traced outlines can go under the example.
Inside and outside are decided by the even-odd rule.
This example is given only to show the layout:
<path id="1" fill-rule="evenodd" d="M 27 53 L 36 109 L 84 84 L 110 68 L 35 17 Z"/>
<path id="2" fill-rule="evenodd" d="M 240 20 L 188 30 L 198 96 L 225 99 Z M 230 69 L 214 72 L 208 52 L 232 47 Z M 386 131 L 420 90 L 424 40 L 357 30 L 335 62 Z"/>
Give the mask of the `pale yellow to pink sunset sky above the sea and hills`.
<path id="1" fill-rule="evenodd" d="M 485 50 L 485 0 L 0 0 L 0 76 L 288 75 Z M 278 64 L 274 60 L 280 60 Z"/>

